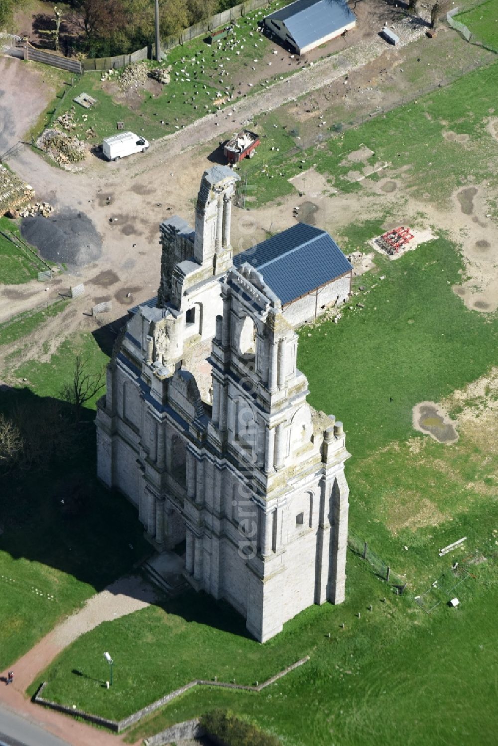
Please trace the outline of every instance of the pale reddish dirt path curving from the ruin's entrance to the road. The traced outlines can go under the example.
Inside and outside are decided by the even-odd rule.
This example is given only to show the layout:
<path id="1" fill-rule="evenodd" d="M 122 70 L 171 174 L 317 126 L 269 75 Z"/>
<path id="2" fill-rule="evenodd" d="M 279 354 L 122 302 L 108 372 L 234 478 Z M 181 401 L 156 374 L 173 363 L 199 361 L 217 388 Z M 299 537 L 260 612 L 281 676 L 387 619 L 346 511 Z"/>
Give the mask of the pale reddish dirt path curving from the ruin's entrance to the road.
<path id="1" fill-rule="evenodd" d="M 2 703 L 40 724 L 55 736 L 69 741 L 72 746 L 115 745 L 116 736 L 43 709 L 26 699 L 24 692 L 55 656 L 75 639 L 90 632 L 103 621 L 113 621 L 131 614 L 155 600 L 155 590 L 139 576 L 124 577 L 111 583 L 104 591 L 92 596 L 81 611 L 58 624 L 12 666 L 14 683 L 0 689 Z"/>

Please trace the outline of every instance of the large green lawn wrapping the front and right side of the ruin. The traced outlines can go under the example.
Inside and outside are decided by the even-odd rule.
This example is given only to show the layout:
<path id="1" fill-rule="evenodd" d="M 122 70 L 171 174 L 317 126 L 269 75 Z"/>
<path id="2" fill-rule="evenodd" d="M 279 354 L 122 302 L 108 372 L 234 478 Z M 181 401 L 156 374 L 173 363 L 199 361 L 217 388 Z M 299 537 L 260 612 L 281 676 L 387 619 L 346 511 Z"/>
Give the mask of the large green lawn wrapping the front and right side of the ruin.
<path id="1" fill-rule="evenodd" d="M 370 231 L 376 225 L 356 226 L 351 235 L 359 240 Z M 458 251 L 445 239 L 396 262 L 379 260 L 375 275 L 361 277 L 365 308 L 345 310 L 337 326 L 302 330 L 299 345 L 311 403 L 343 419 L 348 433 L 350 531 L 405 574 L 408 594 L 393 595 L 349 553 L 346 603 L 307 609 L 264 646 L 246 637 L 243 621 L 224 604 L 187 595 L 83 636 L 41 677 L 49 682 L 46 696 L 119 718 L 194 677 L 253 683 L 309 654 L 311 662 L 260 695 L 185 695 L 130 740 L 229 706 L 289 745 L 449 744 L 473 732 L 473 712 L 482 708 L 489 714 L 479 744 L 492 743 L 495 692 L 483 681 L 497 661 L 497 454 L 486 436 L 462 431 L 447 447 L 411 427 L 417 401 L 438 401 L 497 363 L 497 319 L 467 310 L 452 292 L 459 269 Z M 439 560 L 438 547 L 460 536 L 467 536 L 464 548 Z M 476 554 L 486 560 L 473 564 Z M 426 615 L 414 596 L 454 560 L 472 574 L 458 588 L 461 607 L 441 605 Z M 104 641 L 116 662 L 110 692 L 101 686 Z M 435 727 L 439 740 L 431 741 Z"/>

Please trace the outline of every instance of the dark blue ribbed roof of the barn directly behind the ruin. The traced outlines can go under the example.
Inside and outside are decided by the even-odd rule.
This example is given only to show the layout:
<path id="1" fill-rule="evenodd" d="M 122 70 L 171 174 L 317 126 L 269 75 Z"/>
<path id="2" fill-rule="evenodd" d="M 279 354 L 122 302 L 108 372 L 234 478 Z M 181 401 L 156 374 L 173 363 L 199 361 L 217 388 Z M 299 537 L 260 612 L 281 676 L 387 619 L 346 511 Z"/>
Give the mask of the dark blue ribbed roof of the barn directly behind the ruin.
<path id="1" fill-rule="evenodd" d="M 293 225 L 234 257 L 237 269 L 245 263 L 258 270 L 282 304 L 352 269 L 329 233 L 306 223 Z"/>

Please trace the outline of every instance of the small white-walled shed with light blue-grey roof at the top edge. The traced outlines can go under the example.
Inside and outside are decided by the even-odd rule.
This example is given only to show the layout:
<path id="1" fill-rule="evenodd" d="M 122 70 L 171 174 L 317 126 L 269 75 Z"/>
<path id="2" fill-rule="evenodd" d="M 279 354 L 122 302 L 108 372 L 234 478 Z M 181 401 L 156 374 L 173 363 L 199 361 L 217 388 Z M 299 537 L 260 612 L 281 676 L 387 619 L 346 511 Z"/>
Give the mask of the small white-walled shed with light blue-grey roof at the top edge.
<path id="1" fill-rule="evenodd" d="M 267 28 L 299 54 L 334 39 L 356 25 L 344 0 L 296 0 L 266 16 Z"/>

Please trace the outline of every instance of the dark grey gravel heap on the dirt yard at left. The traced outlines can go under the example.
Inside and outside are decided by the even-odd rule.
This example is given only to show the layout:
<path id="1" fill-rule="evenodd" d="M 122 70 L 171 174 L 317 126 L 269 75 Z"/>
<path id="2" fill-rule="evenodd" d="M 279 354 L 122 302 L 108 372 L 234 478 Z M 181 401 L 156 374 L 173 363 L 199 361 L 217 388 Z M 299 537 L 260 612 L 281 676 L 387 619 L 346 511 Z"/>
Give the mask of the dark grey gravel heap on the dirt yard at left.
<path id="1" fill-rule="evenodd" d="M 95 225 L 77 210 L 65 210 L 49 218 L 25 218 L 21 234 L 37 247 L 43 259 L 51 262 L 82 267 L 102 254 L 102 238 Z"/>

